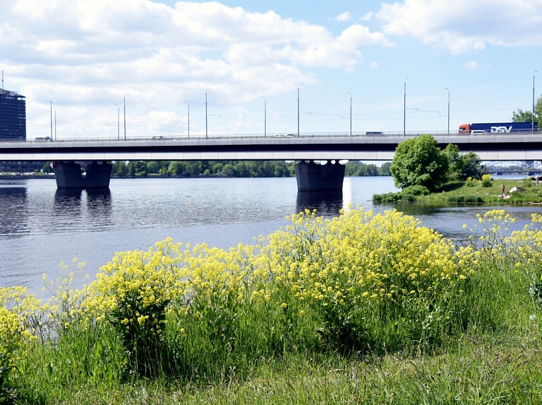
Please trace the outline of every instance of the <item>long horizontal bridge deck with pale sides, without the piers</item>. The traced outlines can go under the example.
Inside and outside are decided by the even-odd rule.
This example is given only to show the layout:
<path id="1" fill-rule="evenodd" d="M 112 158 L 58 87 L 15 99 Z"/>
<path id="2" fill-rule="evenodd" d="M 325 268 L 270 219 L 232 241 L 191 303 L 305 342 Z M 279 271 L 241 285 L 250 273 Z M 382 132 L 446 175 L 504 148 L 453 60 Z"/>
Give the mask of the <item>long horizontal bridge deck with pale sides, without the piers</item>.
<path id="1" fill-rule="evenodd" d="M 176 139 L 62 139 L 0 142 L 0 161 L 121 160 L 392 160 L 397 144 L 416 135 L 221 136 Z M 457 144 L 487 161 L 542 159 L 542 133 L 433 135 L 443 149 Z"/>

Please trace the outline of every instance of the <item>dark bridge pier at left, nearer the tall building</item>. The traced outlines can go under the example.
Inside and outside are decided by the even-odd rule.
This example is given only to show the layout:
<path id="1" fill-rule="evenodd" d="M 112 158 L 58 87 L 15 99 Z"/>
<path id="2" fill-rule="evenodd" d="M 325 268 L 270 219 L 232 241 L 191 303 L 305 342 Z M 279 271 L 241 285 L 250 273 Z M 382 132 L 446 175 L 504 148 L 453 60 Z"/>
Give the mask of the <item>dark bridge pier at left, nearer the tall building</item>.
<path id="1" fill-rule="evenodd" d="M 87 163 L 86 173 L 81 173 L 81 164 L 74 161 L 54 161 L 53 170 L 56 187 L 59 189 L 109 188 L 112 166 L 104 161 Z"/>

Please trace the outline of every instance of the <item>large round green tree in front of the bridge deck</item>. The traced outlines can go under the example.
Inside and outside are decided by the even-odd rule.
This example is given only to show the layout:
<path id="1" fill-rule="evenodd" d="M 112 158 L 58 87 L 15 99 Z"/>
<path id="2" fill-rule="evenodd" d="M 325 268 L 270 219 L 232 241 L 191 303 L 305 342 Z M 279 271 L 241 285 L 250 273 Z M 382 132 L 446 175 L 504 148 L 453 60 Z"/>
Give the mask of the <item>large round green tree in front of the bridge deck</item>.
<path id="1" fill-rule="evenodd" d="M 435 191 L 447 180 L 448 166 L 438 142 L 425 134 L 397 145 L 390 172 L 397 187 L 422 185 Z"/>

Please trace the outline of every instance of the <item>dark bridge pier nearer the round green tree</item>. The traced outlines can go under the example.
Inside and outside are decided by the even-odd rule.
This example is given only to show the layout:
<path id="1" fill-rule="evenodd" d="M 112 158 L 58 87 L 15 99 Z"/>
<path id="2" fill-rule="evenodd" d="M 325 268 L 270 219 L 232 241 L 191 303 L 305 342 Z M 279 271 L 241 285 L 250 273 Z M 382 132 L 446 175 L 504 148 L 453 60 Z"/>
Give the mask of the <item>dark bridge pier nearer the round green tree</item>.
<path id="1" fill-rule="evenodd" d="M 299 192 L 342 190 L 344 169 L 339 162 L 320 165 L 314 161 L 296 164 L 297 190 Z"/>

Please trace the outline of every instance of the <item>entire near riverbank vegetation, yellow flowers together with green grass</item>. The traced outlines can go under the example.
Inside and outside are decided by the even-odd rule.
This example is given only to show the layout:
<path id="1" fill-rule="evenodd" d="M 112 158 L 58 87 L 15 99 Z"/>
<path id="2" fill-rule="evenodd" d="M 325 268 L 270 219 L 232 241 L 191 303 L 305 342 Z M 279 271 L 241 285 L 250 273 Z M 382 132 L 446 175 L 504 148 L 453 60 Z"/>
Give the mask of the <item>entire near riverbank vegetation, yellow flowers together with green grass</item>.
<path id="1" fill-rule="evenodd" d="M 229 251 L 166 239 L 116 254 L 80 290 L 66 268 L 47 301 L 0 289 L 0 401 L 153 403 L 148 389 L 224 404 L 539 395 L 521 352 L 542 357 L 541 217 L 508 235 L 513 219 L 490 211 L 463 247 L 397 211 L 289 220 Z"/>

